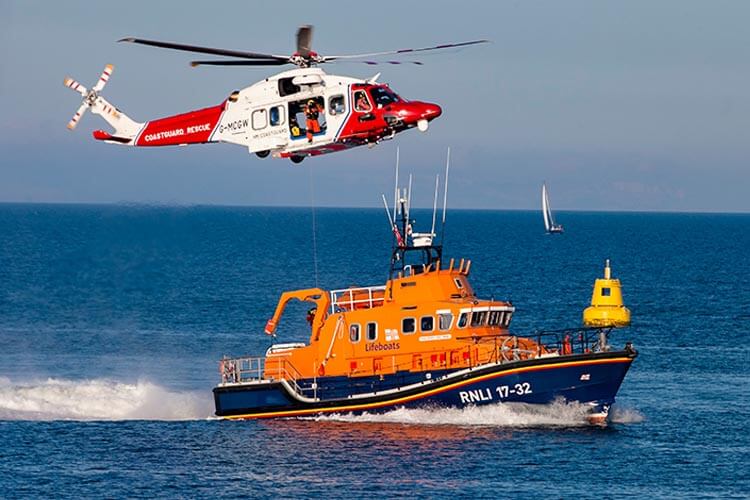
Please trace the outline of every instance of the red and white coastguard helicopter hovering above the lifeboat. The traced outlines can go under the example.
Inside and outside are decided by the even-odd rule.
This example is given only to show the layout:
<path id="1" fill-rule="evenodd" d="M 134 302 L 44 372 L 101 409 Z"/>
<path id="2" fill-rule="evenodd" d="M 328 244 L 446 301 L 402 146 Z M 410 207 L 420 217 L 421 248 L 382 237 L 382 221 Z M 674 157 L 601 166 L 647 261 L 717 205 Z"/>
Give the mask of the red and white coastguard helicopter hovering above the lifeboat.
<path id="1" fill-rule="evenodd" d="M 192 66 L 282 66 L 297 69 L 270 76 L 242 90 L 232 92 L 218 106 L 190 111 L 148 122 L 137 122 L 107 102 L 99 93 L 112 75 L 113 66 L 104 68 L 99 81 L 87 90 L 72 78 L 65 85 L 83 96 L 83 103 L 68 123 L 75 129 L 87 109 L 100 115 L 113 132 L 94 131 L 94 138 L 128 146 L 173 146 L 226 142 L 248 148 L 260 158 L 269 154 L 299 163 L 306 156 L 342 151 L 355 146 L 374 145 L 399 132 L 417 127 L 426 131 L 430 121 L 442 113 L 440 106 L 408 101 L 386 84 L 378 83 L 378 73 L 361 80 L 329 75 L 316 67 L 332 61 L 378 64 L 381 56 L 465 47 L 486 40 L 452 43 L 420 49 L 402 49 L 370 54 L 321 56 L 310 49 L 312 26 L 297 31 L 297 51 L 292 56 L 259 54 L 236 50 L 197 47 L 178 43 L 124 38 L 138 43 L 188 52 L 230 56 L 235 59 L 193 61 Z M 383 61 L 401 64 L 400 61 Z M 421 64 L 417 61 L 407 61 Z"/>

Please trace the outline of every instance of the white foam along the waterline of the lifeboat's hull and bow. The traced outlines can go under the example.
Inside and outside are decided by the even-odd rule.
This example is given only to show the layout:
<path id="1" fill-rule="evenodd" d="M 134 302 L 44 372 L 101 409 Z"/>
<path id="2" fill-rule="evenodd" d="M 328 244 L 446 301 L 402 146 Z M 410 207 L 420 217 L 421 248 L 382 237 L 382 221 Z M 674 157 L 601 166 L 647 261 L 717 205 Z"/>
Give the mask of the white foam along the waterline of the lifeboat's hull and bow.
<path id="1" fill-rule="evenodd" d="M 399 408 L 386 413 L 334 414 L 315 417 L 321 421 L 380 422 L 413 425 L 458 425 L 491 427 L 578 427 L 590 426 L 586 418 L 591 407 L 556 401 L 547 405 L 503 403 L 467 408 Z M 610 422 L 643 420 L 636 410 L 612 409 Z"/>

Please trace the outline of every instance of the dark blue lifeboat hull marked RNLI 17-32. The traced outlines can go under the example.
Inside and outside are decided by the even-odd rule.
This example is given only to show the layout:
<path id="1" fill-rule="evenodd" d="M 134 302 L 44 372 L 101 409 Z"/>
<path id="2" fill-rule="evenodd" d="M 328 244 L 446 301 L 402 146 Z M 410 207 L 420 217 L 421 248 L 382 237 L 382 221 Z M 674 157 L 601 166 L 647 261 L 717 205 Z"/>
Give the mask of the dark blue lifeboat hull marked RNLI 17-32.
<path id="1" fill-rule="evenodd" d="M 636 357 L 619 351 L 483 365 L 473 369 L 403 372 L 381 377 L 226 384 L 214 389 L 216 415 L 272 418 L 384 412 L 399 407 L 466 407 L 504 402 L 590 404 L 606 414 Z M 317 383 L 315 383 L 317 382 Z"/>

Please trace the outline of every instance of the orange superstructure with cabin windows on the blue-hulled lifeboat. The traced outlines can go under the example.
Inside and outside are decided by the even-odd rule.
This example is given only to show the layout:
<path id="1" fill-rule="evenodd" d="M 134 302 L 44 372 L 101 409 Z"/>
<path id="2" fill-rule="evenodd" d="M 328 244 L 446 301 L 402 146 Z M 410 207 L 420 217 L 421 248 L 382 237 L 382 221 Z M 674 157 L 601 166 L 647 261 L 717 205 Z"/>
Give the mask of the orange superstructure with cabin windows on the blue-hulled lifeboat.
<path id="1" fill-rule="evenodd" d="M 284 293 L 267 333 L 286 303 L 298 299 L 315 305 L 310 339 L 304 347 L 269 351 L 266 375 L 372 376 L 497 360 L 511 348 L 506 341 L 514 308 L 479 300 L 468 280 L 470 267 L 470 261 L 451 259 L 445 268 L 435 261 L 409 266 L 385 286 Z M 523 349 L 536 353 L 538 346 L 526 341 Z"/>

